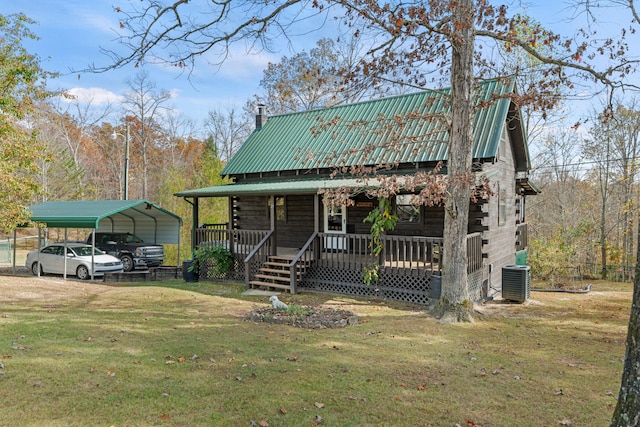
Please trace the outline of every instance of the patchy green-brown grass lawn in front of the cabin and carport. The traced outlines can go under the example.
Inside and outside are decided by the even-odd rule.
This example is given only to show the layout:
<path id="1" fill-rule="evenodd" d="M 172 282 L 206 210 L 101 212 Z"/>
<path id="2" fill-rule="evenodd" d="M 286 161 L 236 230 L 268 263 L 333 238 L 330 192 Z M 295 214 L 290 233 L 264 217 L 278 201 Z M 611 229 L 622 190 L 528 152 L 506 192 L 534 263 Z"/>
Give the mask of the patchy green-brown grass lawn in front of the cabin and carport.
<path id="1" fill-rule="evenodd" d="M 0 276 L 0 426 L 605 426 L 631 284 L 534 292 L 441 325 L 333 295 L 355 326 L 254 323 L 242 285 Z"/>

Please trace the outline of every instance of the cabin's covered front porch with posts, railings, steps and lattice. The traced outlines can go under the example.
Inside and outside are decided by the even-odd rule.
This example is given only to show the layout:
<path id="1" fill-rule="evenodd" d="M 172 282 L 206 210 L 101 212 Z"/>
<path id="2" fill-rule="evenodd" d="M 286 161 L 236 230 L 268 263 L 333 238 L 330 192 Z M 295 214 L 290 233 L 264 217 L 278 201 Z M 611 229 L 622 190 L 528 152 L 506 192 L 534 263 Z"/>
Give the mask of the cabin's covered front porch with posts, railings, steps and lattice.
<path id="1" fill-rule="evenodd" d="M 270 185 L 269 194 L 253 184 L 176 194 L 192 197 L 188 202 L 194 209 L 194 224 L 199 224 L 200 197 L 228 198 L 229 221 L 194 227 L 192 247 L 223 245 L 233 254 L 234 266 L 224 277 L 211 276 L 205 269 L 202 279 L 235 280 L 247 287 L 290 293 L 319 291 L 418 304 L 439 299 L 441 234 L 425 235 L 428 229 L 421 223 L 419 232 L 405 229 L 400 231 L 402 235 L 383 235 L 382 251 L 373 255 L 369 224 L 363 224 L 362 218 L 377 207 L 377 201 L 331 212 L 323 205 L 317 185 L 301 188 L 281 184 L 275 189 Z M 286 195 L 284 212 L 278 211 L 283 206 L 276 194 Z M 468 235 L 470 277 L 482 274 L 482 244 L 480 233 Z M 375 272 L 369 283 L 365 283 L 365 271 Z"/>

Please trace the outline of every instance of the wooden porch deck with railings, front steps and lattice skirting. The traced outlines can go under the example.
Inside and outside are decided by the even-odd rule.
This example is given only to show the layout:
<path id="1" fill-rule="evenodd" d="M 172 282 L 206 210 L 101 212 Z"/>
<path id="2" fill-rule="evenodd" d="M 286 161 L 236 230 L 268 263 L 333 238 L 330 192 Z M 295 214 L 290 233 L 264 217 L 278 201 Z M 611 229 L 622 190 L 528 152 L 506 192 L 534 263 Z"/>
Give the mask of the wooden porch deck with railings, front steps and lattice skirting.
<path id="1" fill-rule="evenodd" d="M 358 296 L 376 295 L 400 301 L 428 304 L 439 293 L 434 283 L 441 275 L 443 239 L 440 237 L 381 237 L 379 255 L 371 253 L 368 234 L 313 233 L 301 248 L 272 245 L 269 230 L 229 230 L 206 227 L 197 230 L 199 245 L 221 244 L 229 248 L 236 262 L 225 278 L 244 281 L 248 287 L 269 286 L 266 270 L 273 270 L 270 258 L 278 258 L 283 270 L 271 287 L 295 293 L 308 290 Z M 479 233 L 467 237 L 467 271 L 482 269 L 482 239 Z M 376 269 L 375 286 L 364 284 L 363 271 Z M 220 279 L 208 277 L 209 279 Z"/>

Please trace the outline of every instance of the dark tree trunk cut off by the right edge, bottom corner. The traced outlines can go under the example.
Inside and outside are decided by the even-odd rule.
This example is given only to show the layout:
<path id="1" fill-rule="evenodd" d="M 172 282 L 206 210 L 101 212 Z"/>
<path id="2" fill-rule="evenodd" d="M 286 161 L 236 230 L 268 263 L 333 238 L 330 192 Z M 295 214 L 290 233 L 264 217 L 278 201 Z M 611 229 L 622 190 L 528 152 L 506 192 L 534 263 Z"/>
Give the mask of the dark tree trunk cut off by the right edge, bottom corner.
<path id="1" fill-rule="evenodd" d="M 639 247 L 640 247 L 640 234 Z M 636 276 L 633 281 L 633 303 L 627 332 L 627 352 L 622 371 L 618 404 L 613 413 L 611 427 L 640 425 L 640 250 L 636 256 Z"/>

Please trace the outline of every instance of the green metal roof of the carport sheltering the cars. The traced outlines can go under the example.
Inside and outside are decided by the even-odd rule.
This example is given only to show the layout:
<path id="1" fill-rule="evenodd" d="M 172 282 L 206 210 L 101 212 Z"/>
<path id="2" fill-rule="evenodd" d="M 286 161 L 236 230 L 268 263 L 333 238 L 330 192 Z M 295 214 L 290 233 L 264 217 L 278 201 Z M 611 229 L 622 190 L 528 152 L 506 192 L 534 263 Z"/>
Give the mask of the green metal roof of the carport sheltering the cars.
<path id="1" fill-rule="evenodd" d="M 182 225 L 182 218 L 147 200 L 50 201 L 29 207 L 31 221 L 59 228 L 98 228 L 100 220 L 116 214 L 131 218 L 171 219 Z"/>

